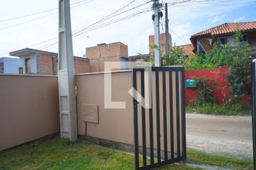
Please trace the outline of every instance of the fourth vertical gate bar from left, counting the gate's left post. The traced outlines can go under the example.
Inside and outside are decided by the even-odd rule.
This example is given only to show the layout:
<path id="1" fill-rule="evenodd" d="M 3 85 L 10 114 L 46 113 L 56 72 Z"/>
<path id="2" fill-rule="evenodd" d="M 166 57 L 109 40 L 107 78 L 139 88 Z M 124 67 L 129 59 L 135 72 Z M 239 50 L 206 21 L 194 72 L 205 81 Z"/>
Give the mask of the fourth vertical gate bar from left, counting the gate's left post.
<path id="1" fill-rule="evenodd" d="M 155 93 L 156 93 L 156 142 L 158 150 L 158 163 L 161 162 L 161 144 L 160 144 L 160 109 L 159 109 L 159 72 L 155 71 Z"/>

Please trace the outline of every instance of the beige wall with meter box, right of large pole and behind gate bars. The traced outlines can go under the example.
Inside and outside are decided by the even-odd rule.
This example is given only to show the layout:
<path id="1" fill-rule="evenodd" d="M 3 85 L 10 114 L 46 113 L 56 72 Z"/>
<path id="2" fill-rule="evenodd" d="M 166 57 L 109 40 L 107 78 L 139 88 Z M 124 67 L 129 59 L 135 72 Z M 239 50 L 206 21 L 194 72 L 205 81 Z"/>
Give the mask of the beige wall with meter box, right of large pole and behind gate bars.
<path id="1" fill-rule="evenodd" d="M 180 79 L 179 73 L 179 82 Z M 167 103 L 169 100 L 169 74 L 166 73 L 166 87 L 167 87 Z M 160 85 L 160 133 L 161 133 L 161 148 L 163 150 L 163 90 L 162 90 L 162 72 L 159 73 Z M 175 86 L 175 72 L 172 72 L 172 92 L 173 106 L 174 106 L 174 126 L 176 126 L 176 86 Z M 104 108 L 104 74 L 84 74 L 77 75 L 77 125 L 78 133 L 80 135 L 89 135 L 109 141 L 122 142 L 130 145 L 134 144 L 133 136 L 133 98 L 128 94 L 132 87 L 132 75 L 129 72 L 112 73 L 112 101 L 125 101 L 126 109 L 105 109 Z M 137 74 L 137 82 L 140 80 L 140 74 Z M 180 84 L 180 83 L 179 83 Z M 156 148 L 156 111 L 155 111 L 155 74 L 152 75 L 152 96 L 153 96 L 153 117 L 154 117 L 154 147 Z M 138 91 L 141 91 L 141 85 L 138 84 Z M 179 92 L 181 87 L 179 86 Z M 179 94 L 181 95 L 181 93 Z M 180 99 L 181 103 L 181 99 Z M 82 121 L 82 104 L 96 104 L 98 105 L 98 124 L 87 122 L 87 130 L 85 122 Z M 170 104 L 167 104 L 167 134 L 170 136 Z M 148 109 L 146 109 L 146 138 L 147 147 L 149 147 L 149 116 Z M 180 113 L 181 115 L 181 104 Z M 142 145 L 141 133 L 141 107 L 138 106 L 138 122 L 139 122 L 139 145 Z M 181 118 L 180 118 L 180 131 L 181 131 Z M 174 145 L 176 152 L 176 128 L 174 128 Z M 180 150 L 182 137 L 180 137 Z M 170 151 L 170 138 L 168 137 L 168 150 Z"/>

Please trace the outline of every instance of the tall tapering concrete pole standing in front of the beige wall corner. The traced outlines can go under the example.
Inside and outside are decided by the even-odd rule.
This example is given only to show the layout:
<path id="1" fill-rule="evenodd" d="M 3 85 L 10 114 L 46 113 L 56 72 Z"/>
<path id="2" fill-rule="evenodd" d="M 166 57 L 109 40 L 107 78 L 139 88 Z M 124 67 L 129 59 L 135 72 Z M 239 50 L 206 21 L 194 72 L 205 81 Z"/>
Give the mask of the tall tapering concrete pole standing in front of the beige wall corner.
<path id="1" fill-rule="evenodd" d="M 75 65 L 69 0 L 59 2 L 59 101 L 61 138 L 77 141 Z"/>

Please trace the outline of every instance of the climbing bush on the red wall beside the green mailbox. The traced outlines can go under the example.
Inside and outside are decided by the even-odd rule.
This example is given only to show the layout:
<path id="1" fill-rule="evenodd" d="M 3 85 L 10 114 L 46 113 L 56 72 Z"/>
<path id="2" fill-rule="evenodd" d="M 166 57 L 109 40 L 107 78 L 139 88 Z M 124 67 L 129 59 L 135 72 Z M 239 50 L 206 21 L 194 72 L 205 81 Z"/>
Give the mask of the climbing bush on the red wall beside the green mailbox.
<path id="1" fill-rule="evenodd" d="M 217 88 L 216 82 L 212 79 L 205 79 L 200 76 L 195 78 L 195 80 L 198 87 L 197 92 L 199 94 L 196 104 L 214 104 L 216 100 L 212 94 L 212 89 Z"/>

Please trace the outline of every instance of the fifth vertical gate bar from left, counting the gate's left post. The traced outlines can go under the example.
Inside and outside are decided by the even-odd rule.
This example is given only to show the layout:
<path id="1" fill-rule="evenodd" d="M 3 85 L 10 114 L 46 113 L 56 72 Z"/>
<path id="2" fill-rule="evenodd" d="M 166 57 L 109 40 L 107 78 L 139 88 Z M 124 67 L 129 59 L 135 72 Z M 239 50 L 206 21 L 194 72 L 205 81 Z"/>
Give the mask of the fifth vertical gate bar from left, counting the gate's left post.
<path id="1" fill-rule="evenodd" d="M 164 160 L 167 156 L 167 116 L 166 116 L 166 71 L 163 71 L 163 125 L 164 125 Z"/>

